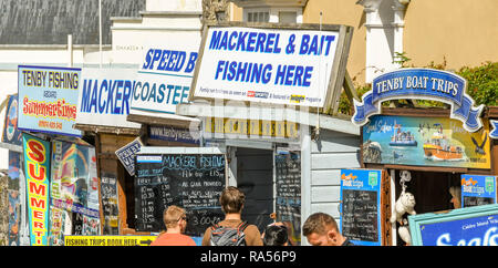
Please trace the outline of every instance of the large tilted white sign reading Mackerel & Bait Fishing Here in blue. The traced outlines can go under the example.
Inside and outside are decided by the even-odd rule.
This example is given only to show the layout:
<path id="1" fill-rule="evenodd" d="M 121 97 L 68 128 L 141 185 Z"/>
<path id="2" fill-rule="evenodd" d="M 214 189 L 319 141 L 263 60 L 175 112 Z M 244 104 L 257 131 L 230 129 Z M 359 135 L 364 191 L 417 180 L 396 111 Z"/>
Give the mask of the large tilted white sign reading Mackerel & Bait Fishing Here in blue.
<path id="1" fill-rule="evenodd" d="M 339 31 L 210 27 L 194 97 L 323 107 Z"/>

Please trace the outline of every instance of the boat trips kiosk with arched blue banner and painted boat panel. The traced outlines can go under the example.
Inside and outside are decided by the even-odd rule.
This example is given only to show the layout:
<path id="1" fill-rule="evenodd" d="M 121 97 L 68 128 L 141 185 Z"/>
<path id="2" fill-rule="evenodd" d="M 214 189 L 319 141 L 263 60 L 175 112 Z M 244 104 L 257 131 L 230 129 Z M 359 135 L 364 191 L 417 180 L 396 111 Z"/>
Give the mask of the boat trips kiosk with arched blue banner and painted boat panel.
<path id="1" fill-rule="evenodd" d="M 373 91 L 356 103 L 352 121 L 362 125 L 362 168 L 386 174 L 380 192 L 390 200 L 382 204 L 383 245 L 412 244 L 412 215 L 497 203 L 496 107 L 474 107 L 465 89 L 466 81 L 452 73 L 402 69 L 374 80 Z M 382 101 L 395 99 L 450 109 L 381 109 Z"/>

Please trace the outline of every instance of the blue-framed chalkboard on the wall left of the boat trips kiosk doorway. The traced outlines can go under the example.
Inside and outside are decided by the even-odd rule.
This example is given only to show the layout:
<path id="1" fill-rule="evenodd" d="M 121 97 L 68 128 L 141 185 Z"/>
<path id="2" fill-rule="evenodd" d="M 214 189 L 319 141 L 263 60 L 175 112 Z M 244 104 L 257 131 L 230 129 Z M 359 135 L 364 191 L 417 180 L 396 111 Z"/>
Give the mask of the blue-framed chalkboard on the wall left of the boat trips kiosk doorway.
<path id="1" fill-rule="evenodd" d="M 341 171 L 341 234 L 355 245 L 381 246 L 381 171 Z"/>

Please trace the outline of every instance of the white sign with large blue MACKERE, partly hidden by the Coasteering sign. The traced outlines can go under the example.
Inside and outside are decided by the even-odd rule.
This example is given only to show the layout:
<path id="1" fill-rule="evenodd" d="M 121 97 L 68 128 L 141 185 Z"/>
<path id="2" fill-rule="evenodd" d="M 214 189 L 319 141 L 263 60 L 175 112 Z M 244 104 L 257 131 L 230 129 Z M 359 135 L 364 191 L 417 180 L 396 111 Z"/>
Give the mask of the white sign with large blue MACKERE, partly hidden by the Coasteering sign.
<path id="1" fill-rule="evenodd" d="M 83 69 L 77 124 L 139 128 L 126 121 L 137 84 L 133 69 Z"/>

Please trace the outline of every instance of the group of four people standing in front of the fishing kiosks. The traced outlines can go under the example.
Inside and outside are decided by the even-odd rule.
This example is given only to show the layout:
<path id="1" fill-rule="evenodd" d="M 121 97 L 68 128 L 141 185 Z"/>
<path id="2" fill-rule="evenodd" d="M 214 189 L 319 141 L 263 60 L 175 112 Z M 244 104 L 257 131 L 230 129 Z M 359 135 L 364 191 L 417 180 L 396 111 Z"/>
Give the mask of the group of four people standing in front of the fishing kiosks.
<path id="1" fill-rule="evenodd" d="M 225 188 L 219 198 L 225 219 L 206 229 L 201 246 L 288 246 L 289 234 L 281 223 L 266 227 L 263 234 L 256 225 L 242 220 L 245 194 L 237 187 Z M 187 227 L 186 210 L 169 206 L 164 212 L 166 231 L 151 246 L 196 246 L 194 239 L 184 231 Z M 312 214 L 302 227 L 303 235 L 312 246 L 353 246 L 340 231 L 335 219 L 324 213 Z"/>

